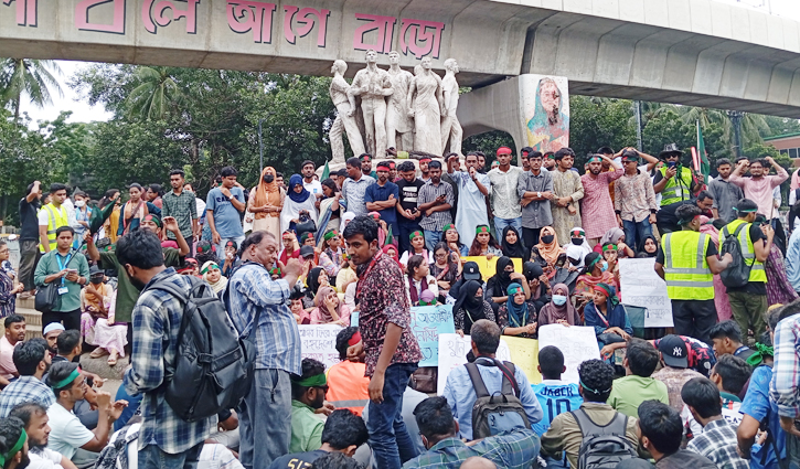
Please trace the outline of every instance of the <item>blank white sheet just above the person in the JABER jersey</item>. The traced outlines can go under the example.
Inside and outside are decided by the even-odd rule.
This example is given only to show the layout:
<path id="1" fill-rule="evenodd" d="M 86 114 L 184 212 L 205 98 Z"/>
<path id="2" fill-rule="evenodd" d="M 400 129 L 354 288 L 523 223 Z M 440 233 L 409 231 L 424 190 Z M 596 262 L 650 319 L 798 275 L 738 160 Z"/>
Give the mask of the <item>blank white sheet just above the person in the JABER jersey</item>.
<path id="1" fill-rule="evenodd" d="M 578 365 L 580 363 L 600 358 L 595 328 L 562 324 L 542 326 L 538 328 L 540 350 L 547 345 L 555 347 L 564 354 L 564 366 L 567 367 L 567 371 L 562 375 L 562 380 L 567 383 L 578 382 Z"/>

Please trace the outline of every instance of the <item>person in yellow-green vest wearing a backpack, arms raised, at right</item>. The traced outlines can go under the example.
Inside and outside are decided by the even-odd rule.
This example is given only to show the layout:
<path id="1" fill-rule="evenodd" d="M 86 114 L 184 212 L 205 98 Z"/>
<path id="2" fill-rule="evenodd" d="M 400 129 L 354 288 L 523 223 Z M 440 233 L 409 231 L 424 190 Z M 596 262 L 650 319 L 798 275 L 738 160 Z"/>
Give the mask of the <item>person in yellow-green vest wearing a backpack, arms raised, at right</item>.
<path id="1" fill-rule="evenodd" d="M 728 236 L 736 236 L 739 239 L 742 255 L 746 265 L 750 267 L 750 278 L 744 287 L 728 287 L 728 299 L 730 310 L 739 328 L 746 334 L 750 329 L 756 338 L 767 329 L 764 315 L 767 312 L 767 273 L 764 270 L 764 263 L 772 248 L 772 236 L 775 231 L 769 223 L 753 223 L 756 221 L 758 205 L 749 199 L 742 199 L 734 207 L 738 218 L 728 223 L 719 232 L 719 243 L 725 242 Z M 738 232 L 737 232 L 738 230 Z"/>

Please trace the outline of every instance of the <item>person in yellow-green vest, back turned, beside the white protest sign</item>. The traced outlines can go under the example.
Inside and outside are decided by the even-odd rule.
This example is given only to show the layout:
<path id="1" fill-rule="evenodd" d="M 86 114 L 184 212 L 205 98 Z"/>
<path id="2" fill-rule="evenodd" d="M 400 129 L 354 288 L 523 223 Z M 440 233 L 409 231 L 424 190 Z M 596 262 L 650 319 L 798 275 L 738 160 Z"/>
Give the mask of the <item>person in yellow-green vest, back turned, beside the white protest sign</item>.
<path id="1" fill-rule="evenodd" d="M 700 207 L 683 205 L 675 214 L 682 230 L 662 236 L 655 273 L 666 281 L 675 333 L 711 343 L 708 331 L 717 321 L 714 275 L 733 258 L 726 254 L 719 260 L 711 236 L 700 233 Z"/>

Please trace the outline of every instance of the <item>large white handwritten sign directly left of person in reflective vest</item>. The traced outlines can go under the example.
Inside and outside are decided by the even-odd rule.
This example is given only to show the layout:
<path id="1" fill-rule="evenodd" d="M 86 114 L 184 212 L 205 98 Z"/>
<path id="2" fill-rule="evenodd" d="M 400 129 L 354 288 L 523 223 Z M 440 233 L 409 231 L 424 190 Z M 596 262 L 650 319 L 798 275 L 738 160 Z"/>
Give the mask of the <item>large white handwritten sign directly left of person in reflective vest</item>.
<path id="1" fill-rule="evenodd" d="M 672 302 L 666 283 L 655 274 L 655 259 L 620 259 L 619 283 L 622 303 L 647 308 L 646 328 L 671 328 Z"/>

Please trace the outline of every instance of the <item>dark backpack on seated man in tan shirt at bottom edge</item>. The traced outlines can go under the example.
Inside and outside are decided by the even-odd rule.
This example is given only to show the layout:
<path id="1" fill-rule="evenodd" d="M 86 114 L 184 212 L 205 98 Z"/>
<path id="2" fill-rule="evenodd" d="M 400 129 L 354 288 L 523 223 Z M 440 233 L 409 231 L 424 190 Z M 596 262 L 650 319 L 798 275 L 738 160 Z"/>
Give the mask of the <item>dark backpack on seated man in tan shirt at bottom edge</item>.
<path id="1" fill-rule="evenodd" d="M 570 412 L 584 440 L 578 452 L 578 469 L 616 469 L 626 459 L 638 457 L 626 438 L 628 416 L 616 413 L 606 426 L 595 424 L 583 408 Z"/>

